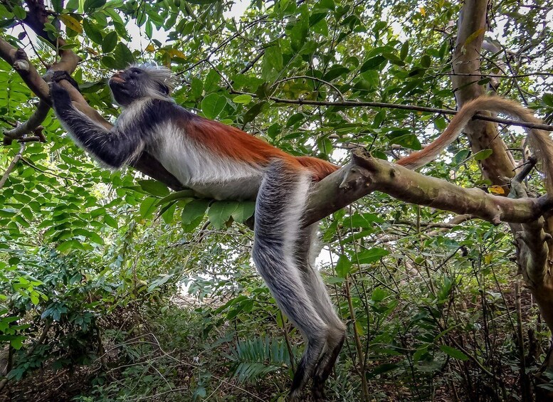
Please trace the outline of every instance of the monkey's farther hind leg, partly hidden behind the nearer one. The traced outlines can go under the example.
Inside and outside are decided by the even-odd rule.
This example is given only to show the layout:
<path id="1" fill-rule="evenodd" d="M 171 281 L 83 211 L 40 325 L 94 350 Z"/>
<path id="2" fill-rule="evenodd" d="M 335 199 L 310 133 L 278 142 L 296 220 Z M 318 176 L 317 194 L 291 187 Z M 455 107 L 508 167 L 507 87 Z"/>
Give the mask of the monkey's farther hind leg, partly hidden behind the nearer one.
<path id="1" fill-rule="evenodd" d="M 346 336 L 346 326 L 337 314 L 327 292 L 325 283 L 315 265 L 320 248 L 317 245 L 318 224 L 303 229 L 297 242 L 297 261 L 302 273 L 302 281 L 312 304 L 328 326 L 325 347 L 319 356 L 313 373 L 313 398 L 325 400 L 325 381 L 338 358 Z"/>

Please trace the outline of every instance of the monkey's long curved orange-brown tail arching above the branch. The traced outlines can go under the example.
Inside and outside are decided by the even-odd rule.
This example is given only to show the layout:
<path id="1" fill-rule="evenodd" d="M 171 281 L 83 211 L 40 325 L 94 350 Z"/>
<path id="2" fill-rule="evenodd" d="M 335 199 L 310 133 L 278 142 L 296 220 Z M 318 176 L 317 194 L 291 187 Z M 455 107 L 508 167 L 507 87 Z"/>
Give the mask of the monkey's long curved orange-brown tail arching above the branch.
<path id="1" fill-rule="evenodd" d="M 433 161 L 443 149 L 457 139 L 468 122 L 480 110 L 504 113 L 523 122 L 538 124 L 542 122 L 537 117 L 534 117 L 534 113 L 531 110 L 513 100 L 497 96 L 477 97 L 461 107 L 457 115 L 451 119 L 446 130 L 432 144 L 422 151 L 413 152 L 408 157 L 399 159 L 396 163 L 408 169 L 418 169 Z M 553 194 L 553 141 L 549 137 L 549 133 L 544 130 L 527 129 L 527 131 L 532 149 L 543 164 L 547 177 L 547 192 Z"/>

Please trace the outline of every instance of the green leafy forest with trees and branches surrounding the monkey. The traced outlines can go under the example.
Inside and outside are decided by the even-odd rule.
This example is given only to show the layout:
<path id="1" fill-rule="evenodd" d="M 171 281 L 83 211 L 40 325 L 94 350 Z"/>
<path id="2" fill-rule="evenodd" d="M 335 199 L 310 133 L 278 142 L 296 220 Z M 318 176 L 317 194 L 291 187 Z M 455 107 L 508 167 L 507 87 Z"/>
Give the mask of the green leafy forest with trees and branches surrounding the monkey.
<path id="1" fill-rule="evenodd" d="M 387 161 L 485 92 L 549 122 L 551 13 L 539 0 L 2 1 L 0 392 L 285 396 L 296 333 L 251 267 L 253 205 L 198 199 L 148 154 L 99 169 L 49 112 L 48 78 L 65 70 L 108 126 L 105 78 L 154 60 L 178 74 L 179 104 L 286 152 L 347 164 L 369 149 L 317 186 L 307 217 L 332 214 L 320 263 L 348 323 L 330 398 L 547 400 L 552 200 L 522 129 L 479 116 L 423 174 Z"/>

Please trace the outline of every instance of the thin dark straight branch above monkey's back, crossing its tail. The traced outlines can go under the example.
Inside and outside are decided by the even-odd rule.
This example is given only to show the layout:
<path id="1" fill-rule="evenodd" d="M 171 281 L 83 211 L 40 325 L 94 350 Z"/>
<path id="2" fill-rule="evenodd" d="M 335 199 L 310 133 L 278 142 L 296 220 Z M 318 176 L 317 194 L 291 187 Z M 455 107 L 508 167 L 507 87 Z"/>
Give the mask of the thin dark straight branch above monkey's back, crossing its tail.
<path id="1" fill-rule="evenodd" d="M 257 97 L 255 93 L 243 92 L 237 90 L 231 90 L 231 93 L 251 95 Z M 335 107 L 383 107 L 386 109 L 400 109 L 400 110 L 412 110 L 414 112 L 428 112 L 436 113 L 438 115 L 456 115 L 456 110 L 438 109 L 436 107 L 424 107 L 416 105 L 401 105 L 397 103 L 384 103 L 384 102 L 364 102 L 357 100 L 342 100 L 342 101 L 329 101 L 329 100 L 307 100 L 307 99 L 285 99 L 283 97 L 268 97 L 269 100 L 278 103 L 288 103 L 292 105 L 311 105 L 311 106 L 335 106 Z M 474 115 L 475 120 L 485 120 L 487 122 L 501 123 L 503 125 L 513 125 L 534 129 L 543 129 L 545 131 L 553 131 L 553 126 L 542 125 L 537 123 L 520 122 L 518 120 L 502 119 L 500 117 L 492 117 L 485 115 Z"/>

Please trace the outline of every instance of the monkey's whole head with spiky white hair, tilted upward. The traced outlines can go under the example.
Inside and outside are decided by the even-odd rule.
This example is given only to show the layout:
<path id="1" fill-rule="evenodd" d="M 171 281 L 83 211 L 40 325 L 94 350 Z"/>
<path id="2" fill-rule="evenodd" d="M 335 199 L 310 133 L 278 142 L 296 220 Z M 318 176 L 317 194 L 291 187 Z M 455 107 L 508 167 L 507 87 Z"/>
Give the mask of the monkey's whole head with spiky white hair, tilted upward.
<path id="1" fill-rule="evenodd" d="M 174 76 L 169 68 L 132 65 L 112 75 L 108 85 L 115 102 L 125 107 L 144 97 L 171 99 L 169 92 L 174 88 Z"/>

